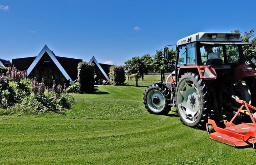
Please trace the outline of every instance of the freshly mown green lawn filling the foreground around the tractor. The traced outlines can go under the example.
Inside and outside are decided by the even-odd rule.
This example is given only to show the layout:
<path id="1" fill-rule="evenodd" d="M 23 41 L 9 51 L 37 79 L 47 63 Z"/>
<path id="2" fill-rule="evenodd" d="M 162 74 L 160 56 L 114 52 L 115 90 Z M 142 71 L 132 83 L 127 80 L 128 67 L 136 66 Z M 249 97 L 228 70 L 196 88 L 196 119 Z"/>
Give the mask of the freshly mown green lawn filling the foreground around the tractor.
<path id="1" fill-rule="evenodd" d="M 176 112 L 149 114 L 142 97 L 151 83 L 97 85 L 73 94 L 65 114 L 0 116 L 0 164 L 255 164 L 253 148 L 211 140 Z"/>

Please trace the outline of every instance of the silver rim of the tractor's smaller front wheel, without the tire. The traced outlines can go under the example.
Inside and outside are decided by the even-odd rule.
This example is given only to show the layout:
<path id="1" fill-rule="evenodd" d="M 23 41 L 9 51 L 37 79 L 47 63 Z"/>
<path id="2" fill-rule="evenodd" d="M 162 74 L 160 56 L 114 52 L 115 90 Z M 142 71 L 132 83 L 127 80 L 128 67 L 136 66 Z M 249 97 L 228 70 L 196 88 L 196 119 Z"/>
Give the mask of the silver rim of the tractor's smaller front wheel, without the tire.
<path id="1" fill-rule="evenodd" d="M 153 102 L 154 98 L 158 102 L 157 101 Z M 153 112 L 161 111 L 165 105 L 164 95 L 159 90 L 156 90 L 156 89 L 150 90 L 147 94 L 147 104 L 149 109 L 152 110 Z"/>

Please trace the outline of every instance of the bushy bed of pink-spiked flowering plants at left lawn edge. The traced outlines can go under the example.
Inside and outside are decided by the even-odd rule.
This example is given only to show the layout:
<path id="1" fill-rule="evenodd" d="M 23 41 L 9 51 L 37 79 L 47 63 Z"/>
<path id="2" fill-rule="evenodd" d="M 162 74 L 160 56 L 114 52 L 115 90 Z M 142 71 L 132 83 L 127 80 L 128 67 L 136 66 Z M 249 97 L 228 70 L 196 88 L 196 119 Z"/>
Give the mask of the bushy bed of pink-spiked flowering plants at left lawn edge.
<path id="1" fill-rule="evenodd" d="M 52 88 L 46 88 L 43 79 L 41 82 L 36 78 L 29 80 L 26 71 L 18 71 L 15 67 L 0 75 L 0 99 L 0 115 L 16 111 L 62 113 L 70 109 L 74 102 L 74 98 L 66 92 L 66 85 L 62 87 L 53 82 Z"/>

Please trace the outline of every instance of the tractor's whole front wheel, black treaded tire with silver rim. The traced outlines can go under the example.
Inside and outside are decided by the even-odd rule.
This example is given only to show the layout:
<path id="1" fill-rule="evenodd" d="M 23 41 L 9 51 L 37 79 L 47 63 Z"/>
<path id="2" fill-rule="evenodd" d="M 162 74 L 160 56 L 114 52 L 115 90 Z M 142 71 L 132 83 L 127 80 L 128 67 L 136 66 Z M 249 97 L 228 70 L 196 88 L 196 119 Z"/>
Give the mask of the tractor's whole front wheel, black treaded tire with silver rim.
<path id="1" fill-rule="evenodd" d="M 144 104 L 145 108 L 149 113 L 164 115 L 170 111 L 170 90 L 160 84 L 152 84 L 147 87 L 144 93 Z"/>

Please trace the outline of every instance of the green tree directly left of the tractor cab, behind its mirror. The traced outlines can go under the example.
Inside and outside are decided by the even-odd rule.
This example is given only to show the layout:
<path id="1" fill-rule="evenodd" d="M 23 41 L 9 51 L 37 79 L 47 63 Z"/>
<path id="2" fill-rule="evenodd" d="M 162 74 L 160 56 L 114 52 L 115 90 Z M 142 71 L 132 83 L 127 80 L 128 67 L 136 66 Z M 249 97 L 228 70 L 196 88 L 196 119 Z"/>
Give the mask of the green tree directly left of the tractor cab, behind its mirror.
<path id="1" fill-rule="evenodd" d="M 169 57 L 166 58 L 164 56 L 163 50 L 157 50 L 155 56 L 153 57 L 153 63 L 152 66 L 154 67 L 155 72 L 158 72 L 161 74 L 161 81 L 165 81 L 164 73 L 166 72 L 172 72 L 173 71 L 173 64 L 176 60 L 176 50 L 173 48 L 169 50 Z"/>

